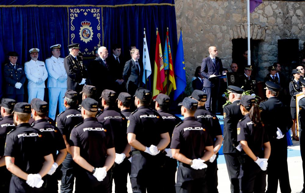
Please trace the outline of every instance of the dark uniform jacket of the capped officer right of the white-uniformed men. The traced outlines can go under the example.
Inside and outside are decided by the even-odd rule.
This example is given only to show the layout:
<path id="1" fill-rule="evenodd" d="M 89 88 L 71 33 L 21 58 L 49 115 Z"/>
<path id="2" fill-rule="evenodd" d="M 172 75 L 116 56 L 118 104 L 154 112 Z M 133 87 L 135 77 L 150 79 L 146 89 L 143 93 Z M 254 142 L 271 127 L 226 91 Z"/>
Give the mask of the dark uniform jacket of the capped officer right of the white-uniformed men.
<path id="1" fill-rule="evenodd" d="M 79 85 L 83 78 L 87 78 L 87 69 L 83 65 L 81 57 L 77 56 L 77 60 L 69 54 L 63 59 L 63 64 L 68 75 L 67 90 L 74 90 L 78 93 L 82 90 L 84 84 Z"/>

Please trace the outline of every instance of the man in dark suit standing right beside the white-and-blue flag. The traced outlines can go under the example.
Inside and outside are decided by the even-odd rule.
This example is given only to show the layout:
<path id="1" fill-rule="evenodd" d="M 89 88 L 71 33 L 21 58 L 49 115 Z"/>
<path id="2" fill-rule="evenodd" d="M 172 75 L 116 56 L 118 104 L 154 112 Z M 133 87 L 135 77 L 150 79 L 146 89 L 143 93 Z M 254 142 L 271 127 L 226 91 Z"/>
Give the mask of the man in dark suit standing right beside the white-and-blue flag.
<path id="1" fill-rule="evenodd" d="M 125 63 L 123 79 L 126 82 L 126 89 L 130 95 L 135 95 L 135 91 L 140 87 L 143 76 L 143 65 L 140 63 L 140 53 L 138 49 L 130 51 L 131 60 Z"/>

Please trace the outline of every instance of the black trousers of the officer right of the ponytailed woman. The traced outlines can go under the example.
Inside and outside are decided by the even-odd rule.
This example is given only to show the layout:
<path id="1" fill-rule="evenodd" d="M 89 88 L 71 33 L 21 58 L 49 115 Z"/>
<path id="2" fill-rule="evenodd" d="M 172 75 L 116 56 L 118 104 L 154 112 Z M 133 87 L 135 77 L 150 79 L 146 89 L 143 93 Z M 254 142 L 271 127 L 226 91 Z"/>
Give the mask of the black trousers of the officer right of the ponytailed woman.
<path id="1" fill-rule="evenodd" d="M 268 159 L 268 187 L 266 193 L 276 193 L 278 182 L 282 193 L 290 193 L 287 164 L 287 139 L 271 139 L 271 154 Z"/>

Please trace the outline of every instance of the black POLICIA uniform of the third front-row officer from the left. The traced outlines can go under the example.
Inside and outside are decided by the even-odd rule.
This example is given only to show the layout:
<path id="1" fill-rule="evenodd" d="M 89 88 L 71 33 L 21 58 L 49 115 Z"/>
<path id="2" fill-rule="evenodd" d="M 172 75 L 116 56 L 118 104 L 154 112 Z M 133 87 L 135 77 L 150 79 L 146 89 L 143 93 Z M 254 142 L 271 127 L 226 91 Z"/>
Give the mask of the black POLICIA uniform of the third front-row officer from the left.
<path id="1" fill-rule="evenodd" d="M 138 107 L 131 113 L 127 122 L 127 134 L 134 133 L 136 140 L 144 146 L 158 145 L 160 134 L 167 133 L 162 117 L 146 106 Z M 131 146 L 131 174 L 130 182 L 133 192 L 160 192 L 159 173 L 164 165 L 164 155 L 152 156 Z M 152 184 L 151 182 L 155 182 Z"/>

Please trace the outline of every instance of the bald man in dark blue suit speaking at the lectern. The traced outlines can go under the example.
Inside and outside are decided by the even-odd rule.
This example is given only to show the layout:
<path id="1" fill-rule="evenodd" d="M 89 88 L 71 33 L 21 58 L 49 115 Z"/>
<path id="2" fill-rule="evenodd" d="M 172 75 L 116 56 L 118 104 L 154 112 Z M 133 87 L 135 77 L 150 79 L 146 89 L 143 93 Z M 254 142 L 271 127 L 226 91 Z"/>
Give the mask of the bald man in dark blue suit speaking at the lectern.
<path id="1" fill-rule="evenodd" d="M 204 76 L 203 91 L 207 95 L 206 110 L 216 113 L 217 94 L 220 87 L 220 79 L 213 78 L 223 74 L 221 60 L 216 57 L 218 55 L 217 48 L 209 47 L 210 56 L 204 58 L 201 63 L 201 74 Z"/>

